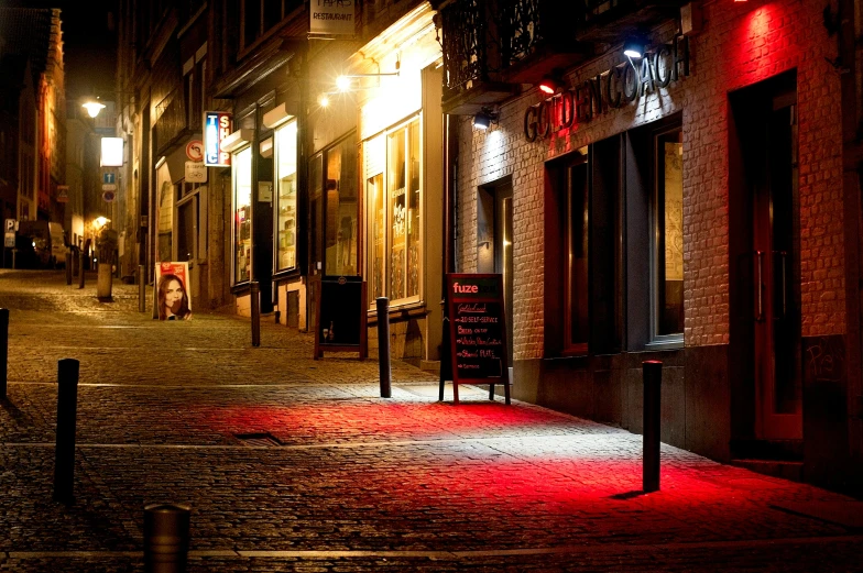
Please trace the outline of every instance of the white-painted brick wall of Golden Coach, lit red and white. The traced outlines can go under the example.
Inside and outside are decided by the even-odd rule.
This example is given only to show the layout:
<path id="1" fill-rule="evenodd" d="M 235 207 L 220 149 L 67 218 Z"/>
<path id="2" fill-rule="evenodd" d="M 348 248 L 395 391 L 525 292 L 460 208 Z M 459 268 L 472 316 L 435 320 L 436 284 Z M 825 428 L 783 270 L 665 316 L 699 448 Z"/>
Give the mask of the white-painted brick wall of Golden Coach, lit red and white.
<path id="1" fill-rule="evenodd" d="M 797 68 L 799 121 L 802 335 L 842 333 L 842 185 L 840 80 L 821 9 L 806 1 L 713 2 L 703 32 L 691 38 L 690 76 L 592 122 L 528 143 L 525 108 L 533 89 L 501 108 L 498 124 L 459 130 L 459 271 L 477 268 L 477 188 L 512 176 L 514 225 L 514 357 L 543 355 L 544 162 L 588 143 L 682 110 L 685 340 L 729 342 L 728 92 Z M 653 43 L 668 42 L 673 24 Z M 568 79 L 579 82 L 621 62 L 613 49 Z"/>

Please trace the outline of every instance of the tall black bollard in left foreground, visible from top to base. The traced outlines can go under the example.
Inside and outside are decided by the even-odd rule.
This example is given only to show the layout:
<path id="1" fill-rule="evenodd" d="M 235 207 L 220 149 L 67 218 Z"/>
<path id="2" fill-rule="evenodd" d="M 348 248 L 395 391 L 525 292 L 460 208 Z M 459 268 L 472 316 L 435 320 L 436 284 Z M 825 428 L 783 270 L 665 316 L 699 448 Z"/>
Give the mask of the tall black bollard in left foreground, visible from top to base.
<path id="1" fill-rule="evenodd" d="M 75 482 L 75 418 L 78 409 L 78 361 L 57 363 L 57 436 L 54 451 L 54 500 L 70 504 Z"/>

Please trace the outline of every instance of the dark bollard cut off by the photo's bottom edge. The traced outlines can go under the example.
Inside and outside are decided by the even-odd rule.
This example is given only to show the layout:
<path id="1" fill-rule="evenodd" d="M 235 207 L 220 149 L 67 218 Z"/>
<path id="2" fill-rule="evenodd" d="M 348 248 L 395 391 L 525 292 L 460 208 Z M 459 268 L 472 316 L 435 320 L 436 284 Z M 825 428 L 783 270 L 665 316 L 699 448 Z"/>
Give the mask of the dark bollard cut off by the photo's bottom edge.
<path id="1" fill-rule="evenodd" d="M 144 507 L 145 573 L 184 573 L 188 558 L 187 505 L 155 504 Z"/>

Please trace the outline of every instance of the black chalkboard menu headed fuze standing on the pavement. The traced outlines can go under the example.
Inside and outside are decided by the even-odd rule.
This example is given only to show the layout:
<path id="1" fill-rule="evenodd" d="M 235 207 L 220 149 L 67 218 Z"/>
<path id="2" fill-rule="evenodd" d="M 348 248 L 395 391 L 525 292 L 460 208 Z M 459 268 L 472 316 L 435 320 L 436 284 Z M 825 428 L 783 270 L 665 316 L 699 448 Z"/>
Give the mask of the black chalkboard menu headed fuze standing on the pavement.
<path id="1" fill-rule="evenodd" d="M 503 384 L 510 404 L 506 355 L 506 313 L 503 280 L 495 274 L 447 274 L 452 394 L 458 404 L 459 384 Z"/>

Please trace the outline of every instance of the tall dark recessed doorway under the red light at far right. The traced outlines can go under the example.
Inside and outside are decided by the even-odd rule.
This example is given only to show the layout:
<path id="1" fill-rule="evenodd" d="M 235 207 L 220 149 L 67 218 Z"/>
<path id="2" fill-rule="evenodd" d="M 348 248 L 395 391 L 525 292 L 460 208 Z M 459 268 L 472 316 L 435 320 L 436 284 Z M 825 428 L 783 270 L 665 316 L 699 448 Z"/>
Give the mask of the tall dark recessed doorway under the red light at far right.
<path id="1" fill-rule="evenodd" d="M 732 400 L 756 440 L 802 439 L 796 93 L 790 71 L 730 97 L 732 355 L 751 381 Z"/>

